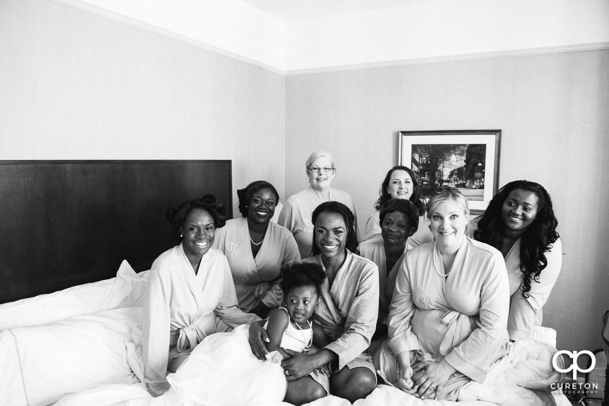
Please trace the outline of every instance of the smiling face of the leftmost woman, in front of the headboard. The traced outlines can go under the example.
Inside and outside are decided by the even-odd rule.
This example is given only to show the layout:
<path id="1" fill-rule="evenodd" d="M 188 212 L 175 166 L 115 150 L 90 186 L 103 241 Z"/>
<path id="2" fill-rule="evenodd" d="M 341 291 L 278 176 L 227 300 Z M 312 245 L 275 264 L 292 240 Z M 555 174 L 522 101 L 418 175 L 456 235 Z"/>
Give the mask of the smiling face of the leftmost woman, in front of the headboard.
<path id="1" fill-rule="evenodd" d="M 192 210 L 180 227 L 180 233 L 186 258 L 191 264 L 198 264 L 214 242 L 214 218 L 206 210 Z"/>

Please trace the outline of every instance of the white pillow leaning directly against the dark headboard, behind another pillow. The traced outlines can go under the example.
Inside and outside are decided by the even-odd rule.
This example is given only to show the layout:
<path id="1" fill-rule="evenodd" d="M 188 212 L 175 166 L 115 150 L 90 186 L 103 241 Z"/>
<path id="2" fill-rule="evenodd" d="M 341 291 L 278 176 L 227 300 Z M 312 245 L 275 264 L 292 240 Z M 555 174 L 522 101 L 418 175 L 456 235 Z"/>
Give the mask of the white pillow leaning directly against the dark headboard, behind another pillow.
<path id="1" fill-rule="evenodd" d="M 145 289 L 145 279 L 127 261 L 122 261 L 116 278 L 0 305 L 0 331 L 107 309 L 141 306 Z"/>

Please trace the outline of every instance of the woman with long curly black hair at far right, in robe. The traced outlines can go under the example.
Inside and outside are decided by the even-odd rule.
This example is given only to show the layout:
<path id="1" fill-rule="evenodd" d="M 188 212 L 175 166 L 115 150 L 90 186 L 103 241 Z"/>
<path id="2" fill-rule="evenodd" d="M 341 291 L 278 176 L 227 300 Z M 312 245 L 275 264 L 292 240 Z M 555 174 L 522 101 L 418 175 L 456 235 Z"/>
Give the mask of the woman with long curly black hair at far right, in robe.
<path id="1" fill-rule="evenodd" d="M 510 281 L 511 340 L 538 337 L 542 307 L 562 266 L 562 246 L 552 200 L 543 186 L 513 181 L 502 187 L 466 233 L 505 259 Z"/>

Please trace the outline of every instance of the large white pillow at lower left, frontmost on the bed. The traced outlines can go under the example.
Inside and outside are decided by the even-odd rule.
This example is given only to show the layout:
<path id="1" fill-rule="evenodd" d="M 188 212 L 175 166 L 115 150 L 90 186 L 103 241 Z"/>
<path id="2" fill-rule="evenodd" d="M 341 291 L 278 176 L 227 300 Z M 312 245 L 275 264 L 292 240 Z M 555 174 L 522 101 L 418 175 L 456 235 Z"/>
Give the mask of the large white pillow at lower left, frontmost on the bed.
<path id="1" fill-rule="evenodd" d="M 125 341 L 141 343 L 141 308 L 111 309 L 0 333 L 0 405 L 44 406 L 102 384 L 134 384 Z"/>

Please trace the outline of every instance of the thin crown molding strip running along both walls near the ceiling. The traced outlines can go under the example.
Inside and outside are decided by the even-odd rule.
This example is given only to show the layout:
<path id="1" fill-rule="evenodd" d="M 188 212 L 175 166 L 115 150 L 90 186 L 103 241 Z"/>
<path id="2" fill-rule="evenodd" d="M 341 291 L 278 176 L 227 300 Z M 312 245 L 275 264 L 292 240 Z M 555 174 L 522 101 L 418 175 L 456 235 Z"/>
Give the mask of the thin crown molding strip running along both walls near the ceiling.
<path id="1" fill-rule="evenodd" d="M 453 62 L 453 61 L 466 61 L 466 60 L 480 60 L 480 59 L 488 59 L 488 58 L 507 58 L 507 57 L 523 57 L 528 55 L 544 55 L 549 53 L 565 53 L 565 52 L 580 52 L 580 51 L 590 51 L 590 50 L 604 50 L 609 49 L 609 42 L 603 43 L 592 43 L 592 44 L 576 44 L 576 45 L 567 45 L 567 46 L 555 46 L 555 47 L 539 47 L 539 48 L 530 48 L 530 49 L 516 49 L 516 50 L 502 50 L 502 51 L 491 51 L 491 52 L 477 52 L 477 53 L 466 53 L 460 55 L 446 55 L 441 57 L 426 57 L 426 58 L 412 58 L 412 59 L 404 59 L 404 60 L 395 60 L 395 61 L 381 61 L 381 62 L 373 62 L 373 63 L 361 63 L 361 64 L 349 64 L 349 65 L 339 65 L 339 66 L 325 66 L 325 67 L 314 67 L 311 69 L 288 69 L 283 70 L 274 66 L 270 66 L 269 64 L 261 63 L 256 60 L 252 60 L 251 58 L 243 57 L 238 53 L 230 52 L 225 49 L 221 49 L 219 47 L 213 46 L 211 44 L 205 43 L 203 41 L 194 40 L 185 35 L 181 35 L 179 33 L 173 32 L 171 30 L 167 30 L 149 22 L 140 21 L 138 19 L 132 18 L 130 16 L 123 15 L 121 13 L 113 12 L 111 10 L 103 9 L 102 7 L 97 7 L 96 5 L 89 4 L 80 0 L 52 0 L 54 2 L 68 5 L 69 7 L 74 7 L 75 9 L 83 10 L 88 13 L 92 13 L 95 15 L 102 16 L 104 18 L 109 18 L 113 21 L 121 22 L 123 24 L 127 24 L 128 26 L 132 26 L 138 29 L 146 30 L 148 32 L 152 32 L 158 35 L 165 36 L 166 38 L 171 38 L 175 41 L 180 41 L 181 43 L 185 43 L 191 46 L 198 47 L 200 49 L 208 50 L 209 52 L 217 53 L 218 55 L 222 55 L 227 58 L 231 58 L 233 60 L 246 63 L 255 67 L 259 67 L 261 69 L 265 69 L 266 71 L 273 72 L 275 74 L 284 75 L 284 76 L 296 76 L 296 75 L 306 75 L 306 74 L 319 74 L 326 72 L 340 72 L 340 71 L 354 71 L 359 69 L 377 69 L 381 67 L 395 67 L 395 66 L 407 66 L 407 65 L 417 65 L 417 64 L 430 64 L 430 63 L 445 63 L 445 62 Z"/>

